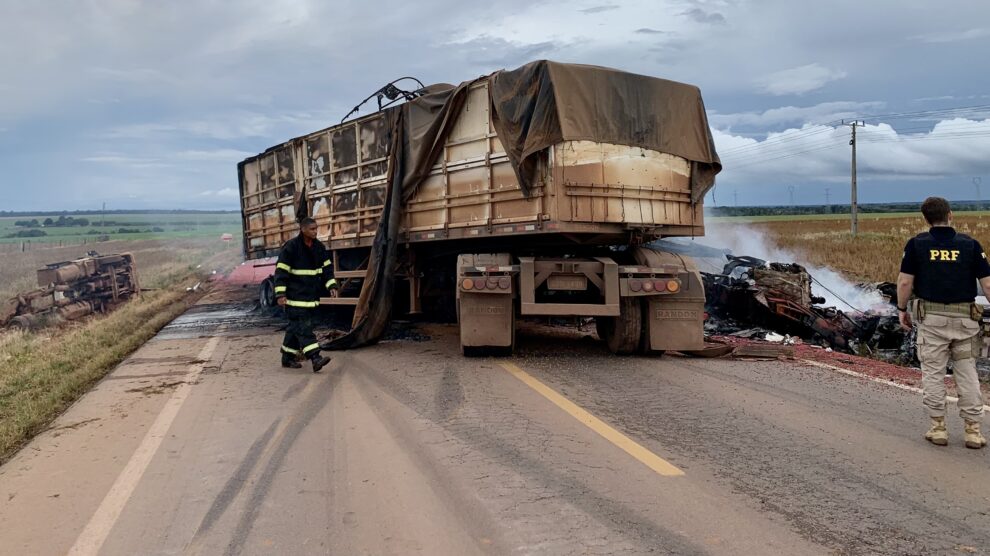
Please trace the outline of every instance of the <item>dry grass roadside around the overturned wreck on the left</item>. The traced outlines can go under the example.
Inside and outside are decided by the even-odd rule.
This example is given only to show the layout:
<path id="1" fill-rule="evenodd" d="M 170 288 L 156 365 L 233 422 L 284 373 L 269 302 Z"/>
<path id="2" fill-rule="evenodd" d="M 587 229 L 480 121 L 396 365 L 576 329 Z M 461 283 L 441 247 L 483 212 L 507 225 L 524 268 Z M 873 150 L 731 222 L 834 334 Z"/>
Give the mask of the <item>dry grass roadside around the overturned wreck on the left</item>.
<path id="1" fill-rule="evenodd" d="M 112 248 L 101 245 L 106 253 L 133 253 L 142 287 L 155 289 L 108 315 L 38 332 L 0 334 L 0 462 L 185 311 L 196 299 L 185 292 L 185 286 L 198 280 L 198 274 L 236 264 L 239 253 L 217 243 L 178 240 L 119 242 Z M 45 262 L 83 254 L 66 251 L 53 258 L 53 251 L 60 250 L 16 254 L 23 258 L 8 255 L 13 260 L 0 266 L 2 288 L 8 291 L 12 284 L 30 282 L 35 269 Z"/>

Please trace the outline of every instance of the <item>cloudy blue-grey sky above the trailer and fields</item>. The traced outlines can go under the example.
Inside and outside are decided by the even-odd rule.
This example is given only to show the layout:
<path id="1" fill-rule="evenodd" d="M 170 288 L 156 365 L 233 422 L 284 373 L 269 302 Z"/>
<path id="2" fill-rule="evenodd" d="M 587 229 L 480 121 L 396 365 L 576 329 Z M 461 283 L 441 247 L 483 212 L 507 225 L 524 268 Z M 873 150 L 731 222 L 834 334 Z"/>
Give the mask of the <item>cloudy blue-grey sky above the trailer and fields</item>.
<path id="1" fill-rule="evenodd" d="M 472 4 L 0 0 L 0 210 L 236 209 L 239 160 L 396 77 L 541 58 L 701 87 L 719 205 L 848 202 L 842 119 L 861 202 L 990 198 L 990 2 Z"/>

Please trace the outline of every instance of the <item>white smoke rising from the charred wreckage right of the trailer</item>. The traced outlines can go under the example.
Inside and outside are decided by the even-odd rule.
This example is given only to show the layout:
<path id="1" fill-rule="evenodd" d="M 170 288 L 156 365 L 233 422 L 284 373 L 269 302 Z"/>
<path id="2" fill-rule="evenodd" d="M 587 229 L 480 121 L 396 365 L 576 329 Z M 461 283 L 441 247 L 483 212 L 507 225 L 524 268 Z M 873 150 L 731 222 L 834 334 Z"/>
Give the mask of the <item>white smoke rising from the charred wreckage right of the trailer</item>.
<path id="1" fill-rule="evenodd" d="M 813 265 L 795 253 L 773 245 L 758 230 L 745 226 L 708 226 L 705 230 L 705 238 L 701 242 L 712 247 L 728 249 L 737 257 L 748 255 L 768 263 L 797 263 L 803 266 L 813 278 L 812 293 L 824 297 L 826 306 L 841 311 L 855 309 L 888 312 L 891 310 L 879 292 L 857 287 L 838 272 Z"/>

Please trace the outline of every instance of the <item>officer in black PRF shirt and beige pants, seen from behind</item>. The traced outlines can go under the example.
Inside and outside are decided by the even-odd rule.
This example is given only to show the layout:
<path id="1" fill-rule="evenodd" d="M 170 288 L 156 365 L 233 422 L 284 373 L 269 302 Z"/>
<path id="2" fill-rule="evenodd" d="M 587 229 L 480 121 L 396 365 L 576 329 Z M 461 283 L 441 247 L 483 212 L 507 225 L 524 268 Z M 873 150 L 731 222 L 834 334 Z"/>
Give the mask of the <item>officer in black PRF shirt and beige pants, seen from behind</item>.
<path id="1" fill-rule="evenodd" d="M 983 395 L 976 356 L 983 345 L 983 310 L 973 301 L 977 281 L 990 298 L 990 265 L 978 241 L 952 228 L 948 201 L 929 197 L 921 204 L 921 213 L 931 229 L 911 238 L 904 247 L 897 277 L 897 310 L 905 329 L 914 322 L 918 325 L 924 404 L 931 418 L 925 439 L 938 446 L 949 443 L 945 428 L 945 367 L 951 359 L 959 390 L 959 416 L 966 425 L 966 447 L 982 448 L 987 440 L 980 432 Z M 909 311 L 912 291 L 917 299 Z"/>

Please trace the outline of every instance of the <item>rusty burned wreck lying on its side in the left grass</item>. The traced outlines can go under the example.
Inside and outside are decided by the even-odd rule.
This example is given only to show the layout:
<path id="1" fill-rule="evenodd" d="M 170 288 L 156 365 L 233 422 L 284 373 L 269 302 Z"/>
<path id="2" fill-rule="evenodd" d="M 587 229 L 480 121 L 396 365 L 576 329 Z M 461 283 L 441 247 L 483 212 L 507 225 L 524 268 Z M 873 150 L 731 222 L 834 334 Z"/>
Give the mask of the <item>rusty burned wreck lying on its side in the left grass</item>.
<path id="1" fill-rule="evenodd" d="M 0 327 L 34 328 L 53 321 L 105 313 L 138 295 L 130 253 L 87 256 L 38 270 L 38 288 L 0 304 Z"/>

